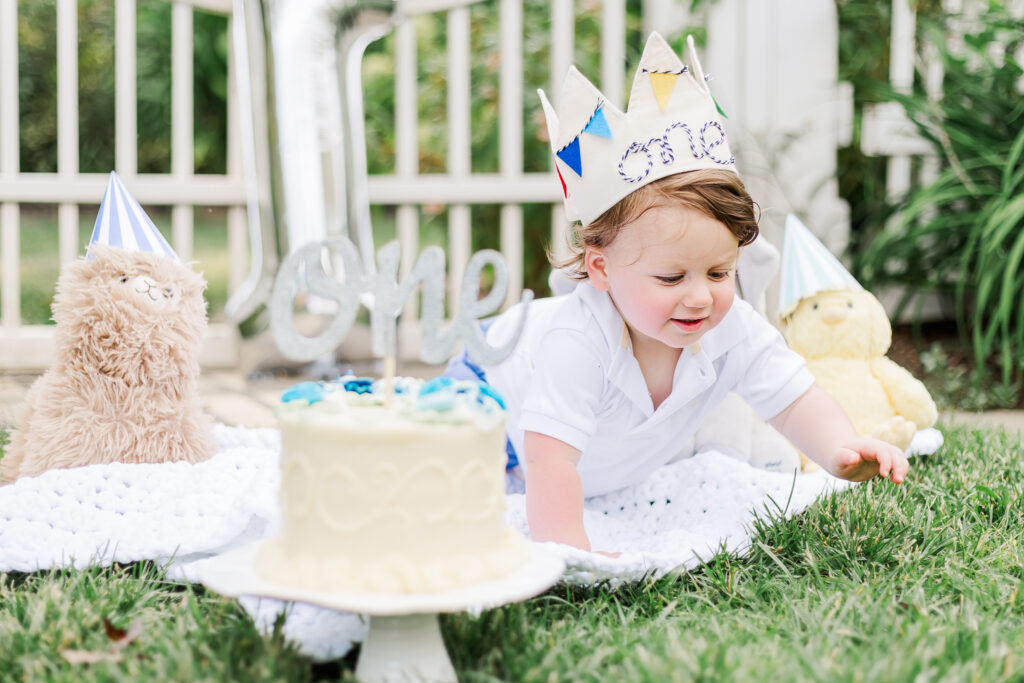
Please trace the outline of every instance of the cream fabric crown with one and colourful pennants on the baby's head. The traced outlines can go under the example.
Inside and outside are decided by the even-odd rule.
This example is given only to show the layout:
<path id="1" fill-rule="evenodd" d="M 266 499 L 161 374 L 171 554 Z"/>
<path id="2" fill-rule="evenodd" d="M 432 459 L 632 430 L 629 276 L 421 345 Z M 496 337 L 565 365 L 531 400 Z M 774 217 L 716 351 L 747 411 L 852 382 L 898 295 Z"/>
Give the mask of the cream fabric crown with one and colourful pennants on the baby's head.
<path id="1" fill-rule="evenodd" d="M 659 34 L 650 35 L 625 114 L 575 67 L 565 76 L 557 114 L 538 90 L 570 220 L 589 224 L 627 195 L 669 175 L 736 172 L 693 39 L 686 40 L 689 66 Z"/>

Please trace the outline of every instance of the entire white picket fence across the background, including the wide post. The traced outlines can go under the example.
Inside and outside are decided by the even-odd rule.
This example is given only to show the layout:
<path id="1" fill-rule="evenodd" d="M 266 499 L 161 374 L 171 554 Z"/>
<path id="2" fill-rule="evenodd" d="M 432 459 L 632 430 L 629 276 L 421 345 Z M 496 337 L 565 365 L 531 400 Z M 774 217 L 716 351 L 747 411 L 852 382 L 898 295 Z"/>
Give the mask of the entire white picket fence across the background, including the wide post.
<path id="1" fill-rule="evenodd" d="M 266 79 L 265 56 L 261 53 L 265 45 L 259 36 L 262 26 L 257 20 L 260 0 L 169 1 L 173 5 L 172 169 L 168 174 L 137 172 L 135 0 L 115 0 L 116 170 L 143 206 L 172 207 L 170 237 L 184 259 L 191 254 L 194 207 L 226 208 L 231 263 L 227 312 L 238 317 L 265 300 L 278 265 L 279 245 L 272 239 L 272 212 L 268 208 L 270 158 L 278 151 L 269 146 L 266 135 L 267 120 L 273 112 L 261 106 Z M 524 31 L 539 29 L 523 26 L 521 0 L 497 0 L 496 4 L 501 32 L 499 171 L 473 173 L 468 135 L 449 135 L 446 171 L 419 172 L 417 38 L 414 26 L 407 22 L 396 26 L 393 40 L 395 171 L 371 176 L 367 190 L 371 203 L 397 207 L 397 233 L 406 268 L 419 251 L 420 207 L 438 203 L 449 206 L 449 276 L 453 288 L 461 281 L 469 258 L 474 229 L 472 206 L 500 204 L 497 229 L 511 269 L 514 285 L 509 299 L 512 300 L 518 297 L 521 287 L 524 250 L 539 248 L 523 244 L 522 205 L 552 206 L 553 247 L 562 244 L 566 223 L 553 174 L 523 172 L 522 65 L 524 58 L 532 58 L 523 54 L 523 35 Z M 445 0 L 398 3 L 410 11 L 444 5 Z M 848 211 L 837 196 L 835 151 L 849 139 L 852 97 L 847 88 L 836 82 L 835 3 L 718 0 L 709 3 L 699 16 L 689 16 L 686 5 L 672 0 L 645 0 L 644 29 L 671 34 L 687 24 L 699 22 L 708 27 L 705 67 L 714 75 L 712 88 L 729 114 L 727 126 L 736 156 L 742 162 L 740 172 L 764 210 L 765 234 L 780 244 L 784 214 L 796 210 L 829 247 L 841 251 L 847 241 Z M 904 20 L 908 0 L 894 0 L 894 50 L 912 55 L 912 24 L 907 30 Z M 223 175 L 200 176 L 193 171 L 193 11 L 197 8 L 229 17 L 231 88 L 228 162 Z M 579 9 L 572 0 L 554 0 L 550 3 L 548 26 L 541 28 L 550 33 L 552 46 L 551 82 L 545 87 L 556 99 L 561 78 L 573 60 Z M 79 205 L 96 204 L 105 183 L 104 175 L 78 171 L 76 0 L 57 0 L 56 10 L 57 172 L 23 173 L 18 168 L 17 0 L 0 0 L 0 372 L 45 368 L 52 353 L 52 328 L 26 326 L 22 321 L 20 205 L 58 207 L 59 253 L 54 254 L 54 259 L 63 263 L 78 256 Z M 446 11 L 445 19 L 446 125 L 456 131 L 469 129 L 474 106 L 470 83 L 470 11 L 466 6 L 456 7 Z M 597 11 L 601 26 L 601 68 L 600 74 L 589 76 L 594 77 L 609 99 L 624 104 L 630 76 L 625 69 L 625 0 L 604 0 Z M 273 31 L 272 26 L 270 30 Z M 772 146 L 774 141 L 783 139 L 788 140 L 786 145 Z M 876 152 L 895 154 L 897 160 L 906 154 L 920 153 L 918 148 L 894 152 L 884 141 L 884 135 L 878 139 L 883 142 Z M 902 163 L 893 162 L 896 166 Z M 287 213 L 286 207 L 286 216 Z M 234 328 L 230 324 L 212 326 L 204 365 L 232 366 L 238 357 L 239 338 Z"/>

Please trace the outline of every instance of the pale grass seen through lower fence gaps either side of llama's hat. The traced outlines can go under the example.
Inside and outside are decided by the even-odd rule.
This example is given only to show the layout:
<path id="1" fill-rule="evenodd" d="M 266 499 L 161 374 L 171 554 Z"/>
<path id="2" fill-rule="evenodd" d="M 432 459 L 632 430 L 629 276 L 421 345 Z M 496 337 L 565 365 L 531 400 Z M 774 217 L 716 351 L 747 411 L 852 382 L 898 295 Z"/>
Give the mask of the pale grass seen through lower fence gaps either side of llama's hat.
<path id="1" fill-rule="evenodd" d="M 79 220 L 79 254 L 92 234 L 95 211 L 82 207 Z M 164 237 L 170 240 L 171 220 L 167 211 L 151 211 L 151 217 Z M 26 325 L 50 324 L 50 304 L 60 272 L 57 252 L 57 217 L 53 207 L 23 209 L 20 219 L 22 319 Z M 210 318 L 223 318 L 227 301 L 227 222 L 220 209 L 197 208 L 193 237 L 193 267 L 203 273 Z"/>

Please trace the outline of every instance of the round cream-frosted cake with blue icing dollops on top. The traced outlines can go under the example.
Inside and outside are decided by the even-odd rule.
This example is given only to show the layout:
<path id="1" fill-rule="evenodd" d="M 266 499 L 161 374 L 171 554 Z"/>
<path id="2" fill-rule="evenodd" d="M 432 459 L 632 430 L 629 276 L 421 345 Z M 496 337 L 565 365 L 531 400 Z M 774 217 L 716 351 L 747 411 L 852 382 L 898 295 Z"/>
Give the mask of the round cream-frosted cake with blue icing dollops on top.
<path id="1" fill-rule="evenodd" d="M 283 396 L 281 525 L 265 579 L 329 592 L 430 593 L 528 559 L 505 525 L 505 412 L 485 384 L 351 376 Z"/>

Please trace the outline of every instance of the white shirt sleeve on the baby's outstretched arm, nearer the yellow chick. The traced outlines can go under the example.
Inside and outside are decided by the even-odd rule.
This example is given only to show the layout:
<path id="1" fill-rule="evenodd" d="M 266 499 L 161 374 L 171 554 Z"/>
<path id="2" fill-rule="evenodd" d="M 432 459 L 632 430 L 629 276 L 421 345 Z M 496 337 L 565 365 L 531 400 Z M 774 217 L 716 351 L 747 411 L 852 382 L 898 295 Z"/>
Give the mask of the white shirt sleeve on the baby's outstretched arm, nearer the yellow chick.
<path id="1" fill-rule="evenodd" d="M 748 366 L 733 390 L 762 420 L 770 420 L 810 389 L 814 376 L 803 356 L 786 346 L 782 334 L 768 321 L 757 313 L 746 319 Z"/>

